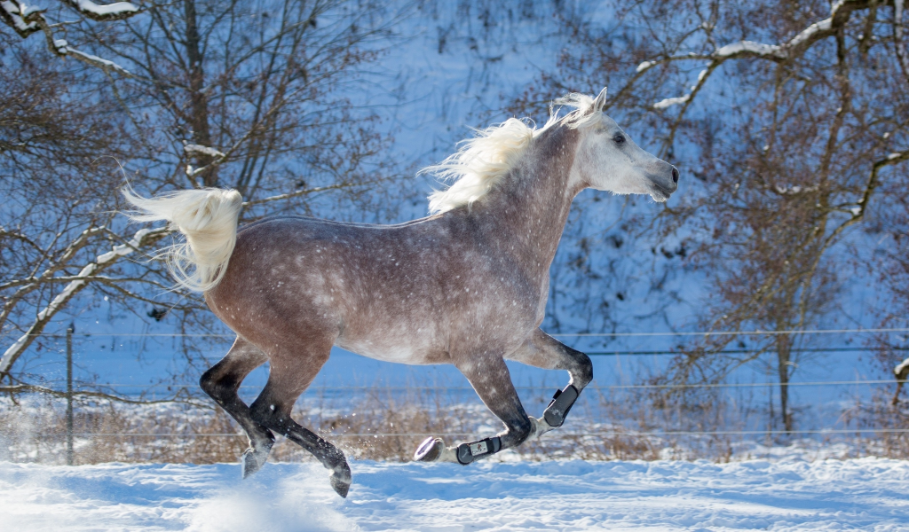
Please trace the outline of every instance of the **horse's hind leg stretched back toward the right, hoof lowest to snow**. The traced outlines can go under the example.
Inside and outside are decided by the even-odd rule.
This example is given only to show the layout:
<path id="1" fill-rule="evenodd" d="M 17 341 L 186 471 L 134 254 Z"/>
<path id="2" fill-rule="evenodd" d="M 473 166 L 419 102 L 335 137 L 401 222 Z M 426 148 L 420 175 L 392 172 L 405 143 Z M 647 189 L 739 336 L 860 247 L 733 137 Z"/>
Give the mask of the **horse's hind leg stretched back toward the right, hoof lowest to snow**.
<path id="1" fill-rule="evenodd" d="M 347 497 L 352 478 L 344 453 L 290 417 L 296 399 L 328 360 L 331 346 L 332 342 L 328 342 L 322 349 L 302 348 L 303 353 L 300 350 L 269 353 L 272 363 L 268 383 L 250 410 L 257 422 L 305 448 L 326 469 L 331 469 L 332 488 L 341 497 Z"/>

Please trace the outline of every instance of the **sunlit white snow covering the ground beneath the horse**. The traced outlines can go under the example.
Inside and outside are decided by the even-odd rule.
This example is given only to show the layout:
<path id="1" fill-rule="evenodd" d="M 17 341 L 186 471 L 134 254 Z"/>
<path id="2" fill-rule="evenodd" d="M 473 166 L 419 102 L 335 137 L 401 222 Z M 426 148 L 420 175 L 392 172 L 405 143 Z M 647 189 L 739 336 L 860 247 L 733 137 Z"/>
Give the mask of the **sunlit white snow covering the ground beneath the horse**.
<path id="1" fill-rule="evenodd" d="M 909 462 L 0 463 L 3 530 L 905 530 Z"/>

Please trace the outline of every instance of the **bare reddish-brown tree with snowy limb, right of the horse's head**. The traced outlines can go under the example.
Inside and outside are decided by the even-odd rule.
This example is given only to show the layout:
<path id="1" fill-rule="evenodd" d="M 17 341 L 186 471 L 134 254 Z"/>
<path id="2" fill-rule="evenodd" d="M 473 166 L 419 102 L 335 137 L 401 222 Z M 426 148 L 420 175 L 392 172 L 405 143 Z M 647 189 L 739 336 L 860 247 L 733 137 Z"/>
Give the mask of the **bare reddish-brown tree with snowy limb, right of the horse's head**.
<path id="1" fill-rule="evenodd" d="M 837 308 L 846 246 L 861 238 L 851 230 L 885 208 L 881 183 L 909 192 L 902 8 L 640 1 L 616 6 L 607 25 L 569 14 L 559 70 L 519 104 L 606 78 L 611 113 L 643 126 L 644 141 L 688 178 L 682 203 L 656 223 L 691 242 L 684 262 L 710 283 L 700 325 L 804 330 Z M 685 346 L 665 379 L 723 379 L 772 352 L 779 419 L 791 430 L 794 348 L 809 340 L 712 337 Z M 749 353 L 724 354 L 730 342 Z"/>

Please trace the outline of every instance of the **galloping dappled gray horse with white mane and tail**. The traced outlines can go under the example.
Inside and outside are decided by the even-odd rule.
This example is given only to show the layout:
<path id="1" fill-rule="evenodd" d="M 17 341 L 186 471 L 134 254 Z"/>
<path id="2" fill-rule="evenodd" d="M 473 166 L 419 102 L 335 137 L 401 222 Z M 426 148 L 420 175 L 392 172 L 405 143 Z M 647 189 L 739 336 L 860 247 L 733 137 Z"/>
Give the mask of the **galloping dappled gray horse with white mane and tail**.
<path id="1" fill-rule="evenodd" d="M 236 191 L 195 190 L 153 199 L 125 196 L 138 220 L 167 220 L 186 242 L 165 250 L 180 285 L 204 291 L 237 334 L 202 389 L 249 437 L 244 477 L 285 435 L 318 458 L 346 497 L 351 472 L 334 445 L 291 419 L 296 399 L 332 346 L 404 364 L 454 364 L 504 429 L 446 447 L 426 439 L 415 459 L 468 464 L 560 427 L 593 379 L 590 359 L 539 329 L 549 265 L 574 196 L 585 188 L 649 194 L 664 202 L 679 173 L 644 152 L 595 98 L 570 94 L 543 127 L 519 120 L 477 132 L 427 169 L 454 178 L 430 197 L 433 215 L 399 225 L 279 216 L 237 231 Z M 504 360 L 568 371 L 541 419 L 528 417 Z M 245 376 L 270 362 L 268 382 L 247 406 Z"/>

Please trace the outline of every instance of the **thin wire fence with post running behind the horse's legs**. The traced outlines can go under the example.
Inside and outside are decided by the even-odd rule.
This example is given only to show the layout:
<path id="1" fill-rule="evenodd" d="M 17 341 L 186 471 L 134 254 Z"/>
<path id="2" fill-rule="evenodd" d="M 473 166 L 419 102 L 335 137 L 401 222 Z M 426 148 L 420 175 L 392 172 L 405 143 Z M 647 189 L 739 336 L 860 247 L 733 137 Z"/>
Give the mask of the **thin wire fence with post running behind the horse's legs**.
<path id="1" fill-rule="evenodd" d="M 778 334 L 816 334 L 816 335 L 857 335 L 857 334 L 878 334 L 878 333 L 909 333 L 909 328 L 894 328 L 894 329 L 838 329 L 838 330 L 785 330 L 785 331 L 765 331 L 765 330 L 744 330 L 744 331 L 690 331 L 690 332 L 651 332 L 651 333 L 575 333 L 575 334 L 553 334 L 554 337 L 561 338 L 577 338 L 583 339 L 585 337 L 590 338 L 634 338 L 634 337 L 680 337 L 680 336 L 748 336 L 748 335 L 778 335 Z M 170 334 L 170 333 L 78 333 L 71 332 L 69 334 L 54 334 L 54 333 L 42 333 L 41 336 L 48 339 L 58 339 L 65 338 L 67 340 L 67 360 L 69 365 L 72 365 L 73 359 L 73 339 L 97 339 L 97 338 L 111 338 L 111 339 L 144 339 L 144 338 L 158 338 L 158 339 L 170 339 L 170 338 L 180 338 L 180 337 L 197 337 L 197 338 L 224 338 L 232 339 L 234 335 L 230 334 L 217 334 L 217 333 L 188 333 L 188 334 Z M 105 342 L 106 345 L 106 342 Z M 111 343 L 111 348 L 113 348 L 115 342 Z M 104 348 L 104 346 L 102 346 Z M 121 344 L 121 348 L 122 348 Z M 909 351 L 909 347 L 875 347 L 871 345 L 864 346 L 841 346 L 841 347 L 830 347 L 830 348 L 794 348 L 792 352 L 794 353 L 812 353 L 812 354 L 824 354 L 824 355 L 862 355 L 867 353 L 879 353 L 881 351 L 891 351 L 894 353 Z M 592 357 L 665 357 L 665 356 L 679 356 L 683 354 L 681 350 L 634 350 L 634 349 L 616 349 L 616 350 L 588 350 L 586 351 L 588 355 Z M 756 349 L 732 349 L 732 350 L 721 350 L 715 354 L 722 355 L 752 355 L 758 353 L 760 350 Z M 53 354 L 53 350 L 51 350 Z M 121 357 L 127 355 L 119 355 Z M 897 384 L 903 384 L 905 380 L 897 379 L 869 379 L 857 377 L 855 379 L 811 379 L 805 381 L 794 381 L 789 382 L 785 385 L 786 389 L 871 389 L 871 390 L 884 390 L 888 387 L 895 387 Z M 765 380 L 765 381 L 739 381 L 739 382 L 696 382 L 696 383 L 676 383 L 676 382 L 637 382 L 637 383 L 593 383 L 590 385 L 588 390 L 594 390 L 595 392 L 602 395 L 608 396 L 609 394 L 615 393 L 624 393 L 624 392 L 662 392 L 662 391 L 672 391 L 672 390 L 730 390 L 730 391 L 741 391 L 743 393 L 748 393 L 748 390 L 767 390 L 766 396 L 772 402 L 774 390 L 780 389 L 781 384 L 776 380 Z M 261 385 L 245 384 L 240 386 L 240 390 L 257 390 L 261 389 Z M 552 386 L 515 386 L 514 387 L 519 393 L 533 393 L 543 391 L 546 392 L 546 397 L 548 397 L 548 392 L 552 392 L 554 388 Z M 65 391 L 64 391 L 65 389 Z M 889 391 L 889 390 L 888 390 Z M 166 393 L 165 393 L 166 392 Z M 421 384 L 414 385 L 373 385 L 373 386 L 349 386 L 349 385 L 340 385 L 340 386 L 315 386 L 306 390 L 306 396 L 312 398 L 350 398 L 353 396 L 364 396 L 364 395 L 381 395 L 381 394 L 407 394 L 407 393 L 417 393 L 417 394 L 430 394 L 430 395 L 447 395 L 449 397 L 459 394 L 470 395 L 474 392 L 474 389 L 469 386 L 463 385 L 453 385 L 453 386 L 426 386 Z M 20 387 L 15 389 L 13 386 L 0 386 L 0 393 L 7 393 L 11 396 L 14 394 L 22 393 L 35 393 L 42 394 L 47 393 L 54 396 L 55 398 L 65 398 L 68 403 L 67 411 L 67 429 L 65 431 L 65 438 L 67 440 L 67 445 L 70 448 L 70 453 L 72 453 L 73 441 L 75 438 L 102 438 L 102 439 L 152 439 L 157 438 L 164 439 L 178 439 L 178 438 L 203 438 L 203 439 L 224 439 L 224 438 L 238 438 L 245 439 L 245 434 L 231 432 L 229 429 L 225 430 L 206 430 L 198 431 L 192 430 L 191 428 L 181 429 L 181 430 L 135 430 L 134 429 L 124 429 L 121 431 L 111 431 L 98 429 L 94 431 L 85 431 L 85 430 L 74 430 L 73 424 L 73 409 L 74 403 L 79 397 L 85 397 L 85 399 L 92 400 L 102 400 L 102 399 L 116 399 L 117 397 L 130 397 L 135 400 L 134 403 L 142 403 L 146 398 L 152 397 L 154 400 L 149 400 L 148 402 L 166 402 L 167 397 L 173 397 L 177 399 L 177 394 L 182 394 L 179 397 L 185 399 L 186 397 L 192 396 L 194 400 L 201 399 L 202 401 L 207 401 L 199 389 L 199 385 L 196 382 L 152 382 L 152 383 L 130 383 L 123 381 L 113 381 L 113 382 L 103 382 L 99 380 L 84 380 L 84 379 L 73 379 L 72 371 L 69 371 L 69 379 L 44 379 L 40 380 L 36 386 L 32 386 L 30 389 L 27 387 Z M 84 395 L 83 395 L 84 394 Z M 157 399 L 161 394 L 165 395 L 165 399 Z M 168 395 L 169 394 L 169 395 Z M 589 396 L 589 393 L 585 391 L 585 395 Z M 471 399 L 475 397 L 470 396 Z M 541 396 L 542 397 L 542 396 Z M 629 396 L 631 397 L 631 396 Z M 641 401 L 642 405 L 646 400 L 644 396 L 634 396 L 630 401 Z M 195 403 L 195 404 L 198 404 Z M 614 403 L 611 403 L 614 404 Z M 214 403 L 212 405 L 214 408 Z M 602 412 L 601 412 L 602 413 Z M 609 412 L 605 412 L 604 415 L 608 416 Z M 773 408 L 770 408 L 770 416 L 773 416 Z M 587 419 L 589 421 L 589 419 Z M 881 418 L 877 418 L 877 421 L 880 421 Z M 672 428 L 669 426 L 658 427 L 651 426 L 646 427 L 646 429 L 625 429 L 625 428 L 611 428 L 609 424 L 599 423 L 595 428 L 588 427 L 594 430 L 564 430 L 559 429 L 555 430 L 552 434 L 556 438 L 563 439 L 578 439 L 578 438 L 594 438 L 598 440 L 605 440 L 608 438 L 640 438 L 648 440 L 660 440 L 666 438 L 776 438 L 776 437 L 809 437 L 816 436 L 821 438 L 829 438 L 834 436 L 854 436 L 855 438 L 884 438 L 884 437 L 894 437 L 894 438 L 904 438 L 904 435 L 909 434 L 909 427 L 904 427 L 899 424 L 894 426 L 893 423 L 874 423 L 867 422 L 864 420 L 862 423 L 858 423 L 854 427 L 849 425 L 854 423 L 842 423 L 842 419 L 837 419 L 832 426 L 805 426 L 804 429 L 779 429 L 774 427 L 774 424 L 767 423 L 766 427 L 763 429 L 755 429 L 752 427 L 735 427 L 731 429 L 724 429 L 722 427 L 713 427 L 708 429 L 680 429 Z M 735 425 L 736 422 L 733 422 L 732 425 Z M 740 425 L 742 423 L 739 423 Z M 621 423 L 619 423 L 621 425 Z M 744 425 L 747 425 L 745 423 Z M 753 425 L 753 424 L 752 424 Z M 816 425 L 816 423 L 815 423 Z M 839 426 L 837 426 L 839 425 Z M 844 425 L 846 425 L 844 427 Z M 347 430 L 347 431 L 337 431 L 334 429 L 315 429 L 316 433 L 321 435 L 324 438 L 330 439 L 350 439 L 350 438 L 427 438 L 427 437 L 441 437 L 441 438 L 470 438 L 470 437 L 480 437 L 480 436 L 489 436 L 487 434 L 488 428 L 484 429 L 478 427 L 475 429 L 468 429 L 461 432 L 452 431 L 452 430 L 435 430 L 435 431 L 420 431 L 420 430 L 405 430 L 405 431 L 387 431 L 382 429 L 377 429 L 374 431 L 365 431 L 365 430 Z M 39 432 L 35 433 L 36 437 L 39 438 L 61 438 L 64 434 L 60 432 Z M 70 455 L 72 456 L 72 454 Z M 72 458 L 70 458 L 72 459 Z"/>

